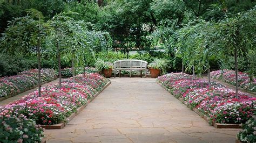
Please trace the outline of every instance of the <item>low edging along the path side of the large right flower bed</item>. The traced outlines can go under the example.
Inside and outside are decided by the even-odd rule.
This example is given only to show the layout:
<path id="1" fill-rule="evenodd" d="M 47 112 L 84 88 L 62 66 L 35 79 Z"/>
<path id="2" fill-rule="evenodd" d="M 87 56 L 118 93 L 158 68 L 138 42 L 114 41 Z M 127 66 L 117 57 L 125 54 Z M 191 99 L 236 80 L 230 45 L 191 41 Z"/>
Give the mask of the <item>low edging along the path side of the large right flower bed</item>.
<path id="1" fill-rule="evenodd" d="M 162 85 L 161 83 L 159 83 L 157 81 L 157 83 L 160 85 L 160 87 L 164 88 L 165 90 L 167 90 L 169 93 L 170 89 L 166 89 L 164 87 L 164 85 Z M 172 95 L 173 96 L 173 95 Z M 175 96 L 174 96 L 175 97 Z M 188 108 L 190 108 L 190 104 L 187 103 L 186 101 L 184 101 L 181 97 L 177 98 L 180 102 L 182 102 L 183 104 L 185 104 Z M 215 123 L 212 121 L 212 123 L 210 123 L 210 121 L 208 120 L 208 117 L 206 115 L 201 114 L 197 109 L 191 109 L 192 111 L 194 111 L 195 113 L 197 113 L 197 115 L 199 115 L 201 118 L 203 118 L 204 120 L 207 121 L 207 123 L 209 123 L 210 125 L 214 126 L 215 128 L 241 128 L 240 124 L 220 124 L 220 123 Z"/>

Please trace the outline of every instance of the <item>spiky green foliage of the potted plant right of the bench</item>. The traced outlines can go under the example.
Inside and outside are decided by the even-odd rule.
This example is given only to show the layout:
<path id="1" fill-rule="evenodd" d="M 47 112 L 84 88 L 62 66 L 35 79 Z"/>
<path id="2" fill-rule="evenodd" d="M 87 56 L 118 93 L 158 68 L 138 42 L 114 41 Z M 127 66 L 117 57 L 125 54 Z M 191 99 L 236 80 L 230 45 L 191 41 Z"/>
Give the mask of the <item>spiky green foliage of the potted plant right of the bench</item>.
<path id="1" fill-rule="evenodd" d="M 154 69 L 160 69 L 161 73 L 166 72 L 166 68 L 168 68 L 170 65 L 170 61 L 166 59 L 154 59 L 153 62 L 151 62 L 148 67 L 149 68 L 154 68 Z"/>

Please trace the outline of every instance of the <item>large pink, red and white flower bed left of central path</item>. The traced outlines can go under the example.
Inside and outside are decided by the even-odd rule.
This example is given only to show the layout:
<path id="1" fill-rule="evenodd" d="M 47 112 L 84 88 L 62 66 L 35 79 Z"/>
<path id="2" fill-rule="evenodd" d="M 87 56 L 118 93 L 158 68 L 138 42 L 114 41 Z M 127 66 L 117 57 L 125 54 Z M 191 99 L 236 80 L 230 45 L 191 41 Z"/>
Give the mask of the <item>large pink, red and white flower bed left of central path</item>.
<path id="1" fill-rule="evenodd" d="M 99 74 L 87 74 L 85 77 L 70 78 L 58 88 L 57 84 L 50 84 L 42 88 L 41 97 L 38 91 L 6 105 L 0 113 L 9 115 L 25 115 L 37 124 L 52 125 L 66 120 L 66 117 L 86 104 L 96 91 L 102 89 L 107 79 Z M 93 84 L 95 87 L 91 87 Z"/>

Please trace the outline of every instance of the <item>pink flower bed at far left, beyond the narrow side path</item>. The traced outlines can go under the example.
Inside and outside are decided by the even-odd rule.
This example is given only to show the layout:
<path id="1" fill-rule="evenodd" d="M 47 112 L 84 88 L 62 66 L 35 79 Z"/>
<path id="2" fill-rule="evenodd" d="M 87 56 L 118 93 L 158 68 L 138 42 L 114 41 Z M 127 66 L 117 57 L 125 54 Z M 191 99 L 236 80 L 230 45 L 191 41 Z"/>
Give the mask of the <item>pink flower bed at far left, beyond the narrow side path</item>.
<path id="1" fill-rule="evenodd" d="M 50 81 L 57 76 L 53 69 L 41 70 L 41 82 Z M 0 78 L 0 98 L 15 95 L 38 84 L 38 69 L 30 69 L 15 76 Z"/>

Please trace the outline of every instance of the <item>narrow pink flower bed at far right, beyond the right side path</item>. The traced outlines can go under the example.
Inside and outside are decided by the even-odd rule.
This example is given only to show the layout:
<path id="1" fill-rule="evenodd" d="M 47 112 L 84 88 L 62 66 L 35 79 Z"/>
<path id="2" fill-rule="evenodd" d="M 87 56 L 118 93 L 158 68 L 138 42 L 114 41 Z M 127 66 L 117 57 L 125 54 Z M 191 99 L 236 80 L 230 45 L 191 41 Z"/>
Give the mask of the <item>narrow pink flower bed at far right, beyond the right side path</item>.
<path id="1" fill-rule="evenodd" d="M 215 70 L 211 72 L 211 77 L 213 79 L 235 85 L 234 70 Z M 238 87 L 256 92 L 256 78 L 253 78 L 252 82 L 250 82 L 250 77 L 247 74 L 238 72 Z"/>

